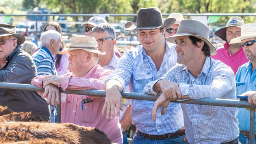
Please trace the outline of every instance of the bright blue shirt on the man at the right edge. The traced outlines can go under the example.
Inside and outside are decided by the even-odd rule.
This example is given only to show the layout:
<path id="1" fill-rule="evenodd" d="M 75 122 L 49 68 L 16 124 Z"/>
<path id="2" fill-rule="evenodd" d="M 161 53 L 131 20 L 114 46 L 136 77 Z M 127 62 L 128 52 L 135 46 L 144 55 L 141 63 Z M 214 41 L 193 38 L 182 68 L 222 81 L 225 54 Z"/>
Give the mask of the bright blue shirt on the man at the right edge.
<path id="1" fill-rule="evenodd" d="M 237 96 L 240 96 L 249 90 L 256 91 L 256 70 L 252 73 L 252 63 L 250 61 L 238 68 L 236 73 L 236 94 Z M 247 111 L 244 108 L 238 108 L 236 117 L 239 122 L 239 130 L 250 131 L 250 111 Z M 254 121 L 254 126 L 256 126 L 256 119 Z"/>

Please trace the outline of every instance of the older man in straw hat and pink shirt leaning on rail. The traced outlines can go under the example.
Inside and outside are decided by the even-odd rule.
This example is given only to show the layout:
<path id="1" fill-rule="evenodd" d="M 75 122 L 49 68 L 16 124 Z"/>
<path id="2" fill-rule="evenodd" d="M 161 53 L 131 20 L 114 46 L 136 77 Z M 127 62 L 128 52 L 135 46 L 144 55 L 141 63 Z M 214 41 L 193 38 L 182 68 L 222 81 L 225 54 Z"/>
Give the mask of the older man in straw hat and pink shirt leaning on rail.
<path id="1" fill-rule="evenodd" d="M 33 79 L 32 84 L 44 87 L 43 98 L 59 103 L 58 86 L 63 90 L 104 89 L 104 79 L 111 70 L 97 64 L 98 44 L 94 37 L 72 37 L 67 50 L 59 54 L 69 54 L 68 70 L 62 76 L 42 75 Z M 121 125 L 115 115 L 112 120 L 101 116 L 104 97 L 67 94 L 61 97 L 61 123 L 69 122 L 80 126 L 96 127 L 104 131 L 111 142 L 122 143 Z M 81 107 L 82 102 L 82 107 Z"/>

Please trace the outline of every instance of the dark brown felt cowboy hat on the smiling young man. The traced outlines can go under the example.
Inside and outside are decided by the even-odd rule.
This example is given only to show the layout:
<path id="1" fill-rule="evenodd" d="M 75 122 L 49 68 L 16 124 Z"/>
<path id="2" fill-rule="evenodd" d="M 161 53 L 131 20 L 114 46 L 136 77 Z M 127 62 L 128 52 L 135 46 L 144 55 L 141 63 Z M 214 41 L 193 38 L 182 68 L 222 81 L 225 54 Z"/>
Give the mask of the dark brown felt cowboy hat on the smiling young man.
<path id="1" fill-rule="evenodd" d="M 172 24 L 175 22 L 173 18 Z M 158 7 L 149 7 L 139 9 L 137 13 L 137 26 L 131 21 L 124 24 L 124 30 L 147 30 L 163 28 L 162 13 Z"/>

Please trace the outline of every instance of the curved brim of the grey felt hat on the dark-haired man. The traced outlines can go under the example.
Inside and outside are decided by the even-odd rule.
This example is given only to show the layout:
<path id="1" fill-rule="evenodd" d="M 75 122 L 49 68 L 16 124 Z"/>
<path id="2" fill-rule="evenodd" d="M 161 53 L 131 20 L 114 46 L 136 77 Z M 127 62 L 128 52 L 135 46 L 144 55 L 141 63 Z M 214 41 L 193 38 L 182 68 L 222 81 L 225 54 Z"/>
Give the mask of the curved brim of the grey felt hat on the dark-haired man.
<path id="1" fill-rule="evenodd" d="M 164 39 L 166 39 L 169 42 L 176 43 L 175 42 L 176 37 L 190 36 L 190 35 L 191 34 L 188 34 L 188 33 L 176 33 L 176 35 L 172 35 L 172 36 L 166 37 Z M 210 41 L 208 41 L 208 39 L 206 39 L 205 37 L 202 37 L 200 35 L 191 35 L 191 36 L 197 37 L 198 39 L 201 39 L 202 41 L 204 41 L 209 46 L 211 55 L 217 54 L 216 48 L 213 46 L 213 44 Z"/>

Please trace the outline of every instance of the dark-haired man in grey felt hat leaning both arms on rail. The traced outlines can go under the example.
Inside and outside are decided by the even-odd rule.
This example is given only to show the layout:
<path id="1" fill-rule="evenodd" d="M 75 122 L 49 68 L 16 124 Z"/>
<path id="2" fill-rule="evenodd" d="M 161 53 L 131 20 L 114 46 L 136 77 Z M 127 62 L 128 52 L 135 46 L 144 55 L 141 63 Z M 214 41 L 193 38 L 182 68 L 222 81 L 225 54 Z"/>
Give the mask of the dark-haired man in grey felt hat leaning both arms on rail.
<path id="1" fill-rule="evenodd" d="M 216 49 L 209 39 L 210 29 L 202 22 L 185 19 L 176 35 L 167 41 L 177 44 L 177 62 L 162 78 L 146 85 L 144 92 L 160 95 L 152 110 L 157 122 L 158 108 L 165 114 L 170 100 L 224 98 L 236 99 L 232 69 L 210 55 Z M 182 103 L 186 137 L 191 144 L 239 144 L 236 108 Z M 163 115 L 167 116 L 168 115 Z"/>

